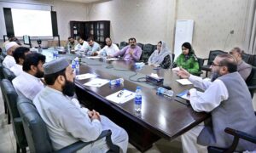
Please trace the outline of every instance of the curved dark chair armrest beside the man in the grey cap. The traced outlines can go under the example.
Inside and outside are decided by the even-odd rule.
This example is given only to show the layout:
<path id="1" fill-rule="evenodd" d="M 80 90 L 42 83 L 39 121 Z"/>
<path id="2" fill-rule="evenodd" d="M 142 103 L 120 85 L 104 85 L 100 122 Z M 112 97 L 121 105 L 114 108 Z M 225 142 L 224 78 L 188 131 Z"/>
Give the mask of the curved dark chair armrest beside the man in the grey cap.
<path id="1" fill-rule="evenodd" d="M 55 153 L 76 152 L 77 150 L 80 150 L 80 149 L 84 148 L 84 146 L 86 146 L 88 144 L 91 144 L 91 143 L 97 141 L 98 139 L 102 139 L 104 137 L 106 137 L 107 144 L 108 144 L 108 138 L 111 140 L 111 138 L 110 138 L 111 134 L 112 133 L 111 133 L 110 130 L 104 130 L 104 131 L 102 131 L 100 136 L 94 141 L 90 141 L 90 142 L 78 141 L 78 142 L 75 142 L 73 144 L 67 145 L 64 148 L 61 148 L 61 150 L 55 151 Z M 112 141 L 111 141 L 111 143 L 112 143 Z"/>

